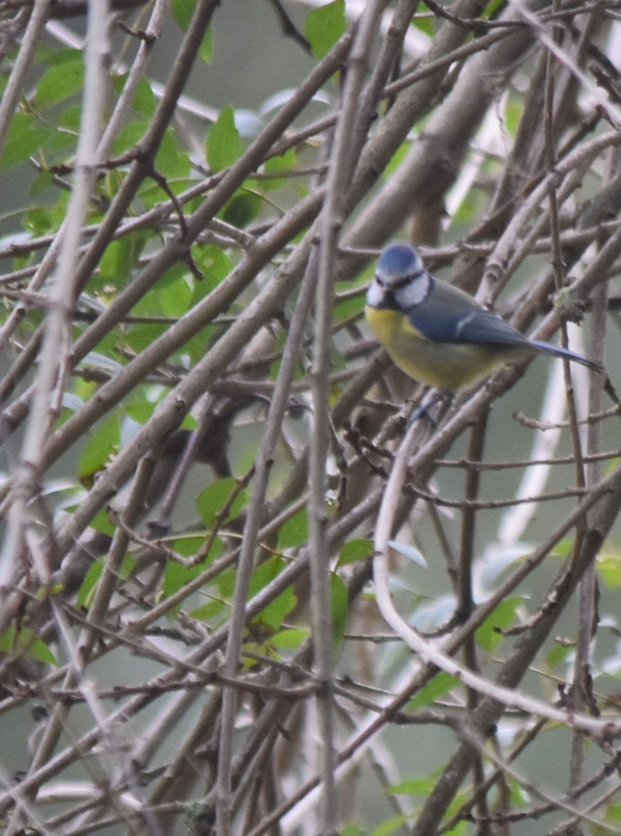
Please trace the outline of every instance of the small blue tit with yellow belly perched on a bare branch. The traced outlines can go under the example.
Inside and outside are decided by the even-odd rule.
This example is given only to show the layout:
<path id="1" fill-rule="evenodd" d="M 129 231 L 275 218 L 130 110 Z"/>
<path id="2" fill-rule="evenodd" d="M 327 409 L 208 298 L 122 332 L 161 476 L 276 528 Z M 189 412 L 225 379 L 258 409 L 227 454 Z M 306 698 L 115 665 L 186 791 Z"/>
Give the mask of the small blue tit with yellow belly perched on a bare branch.
<path id="1" fill-rule="evenodd" d="M 365 313 L 393 363 L 438 389 L 459 390 L 530 354 L 565 357 L 603 372 L 580 354 L 526 339 L 468 293 L 434 278 L 418 252 L 404 244 L 387 247 L 379 257 Z"/>

